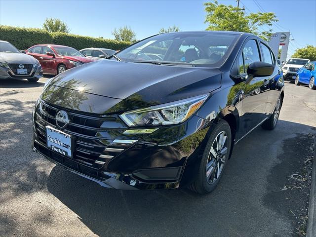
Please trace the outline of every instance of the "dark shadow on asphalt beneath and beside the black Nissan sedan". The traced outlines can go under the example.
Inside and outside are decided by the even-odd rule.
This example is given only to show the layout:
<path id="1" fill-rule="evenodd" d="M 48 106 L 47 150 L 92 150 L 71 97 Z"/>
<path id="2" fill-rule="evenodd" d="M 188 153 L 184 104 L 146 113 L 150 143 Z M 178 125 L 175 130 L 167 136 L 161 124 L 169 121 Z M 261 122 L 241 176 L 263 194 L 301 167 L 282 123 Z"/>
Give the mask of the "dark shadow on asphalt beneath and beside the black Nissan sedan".
<path id="1" fill-rule="evenodd" d="M 273 131 L 255 129 L 235 146 L 221 182 L 209 195 L 187 189 L 105 189 L 59 166 L 51 170 L 47 189 L 98 236 L 288 237 L 296 230 L 288 208 L 302 203 L 292 201 L 282 210 L 278 194 L 284 198 L 284 180 L 295 170 L 300 148 L 295 139 L 313 142 L 309 137 L 315 132 L 312 126 L 284 120 Z M 292 153 L 282 156 L 289 141 Z"/>

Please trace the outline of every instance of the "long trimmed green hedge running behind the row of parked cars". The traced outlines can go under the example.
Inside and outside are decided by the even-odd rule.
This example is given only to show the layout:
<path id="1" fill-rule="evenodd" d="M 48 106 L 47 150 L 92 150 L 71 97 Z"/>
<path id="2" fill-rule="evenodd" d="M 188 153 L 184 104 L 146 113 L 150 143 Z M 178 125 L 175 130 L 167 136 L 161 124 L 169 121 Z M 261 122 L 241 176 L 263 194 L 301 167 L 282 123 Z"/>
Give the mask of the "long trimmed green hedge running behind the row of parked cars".
<path id="1" fill-rule="evenodd" d="M 66 33 L 48 33 L 37 28 L 22 28 L 0 25 L 0 40 L 12 43 L 18 49 L 27 49 L 35 44 L 54 43 L 66 45 L 78 50 L 88 47 L 122 49 L 130 42 L 78 36 Z"/>

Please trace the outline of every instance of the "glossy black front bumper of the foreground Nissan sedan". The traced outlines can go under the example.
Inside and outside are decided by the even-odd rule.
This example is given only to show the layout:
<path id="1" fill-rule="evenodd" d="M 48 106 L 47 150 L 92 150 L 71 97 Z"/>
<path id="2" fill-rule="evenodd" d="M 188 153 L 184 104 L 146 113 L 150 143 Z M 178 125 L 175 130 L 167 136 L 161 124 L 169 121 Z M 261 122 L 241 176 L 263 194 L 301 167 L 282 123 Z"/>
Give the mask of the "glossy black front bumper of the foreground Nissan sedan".
<path id="1" fill-rule="evenodd" d="M 79 157 L 83 156 L 81 152 L 88 153 L 88 150 L 82 149 L 83 140 L 78 133 L 75 138 L 77 140 L 76 147 L 74 147 L 76 152 L 73 158 L 62 156 L 47 148 L 45 139 L 42 137 L 43 134 L 40 134 L 45 132 L 40 130 L 39 126 L 39 123 L 43 121 L 41 118 L 37 118 L 38 116 L 39 112 L 35 108 L 33 151 L 73 173 L 97 182 L 103 187 L 124 190 L 175 189 L 187 185 L 194 179 L 197 160 L 200 157 L 200 152 L 203 151 L 207 140 L 204 138 L 211 125 L 208 120 L 192 116 L 182 124 L 161 127 L 152 134 L 138 136 L 121 134 L 118 136 L 117 132 L 111 140 L 107 139 L 108 142 L 104 150 L 110 151 L 106 154 L 107 156 L 113 155 L 113 158 L 102 165 L 91 165 L 77 157 L 78 154 L 80 154 Z M 109 122 L 103 124 L 109 124 Z M 54 124 L 48 125 L 54 126 Z M 57 127 L 55 126 L 55 128 Z M 65 132 L 72 134 L 71 130 L 65 130 Z M 107 133 L 110 134 L 109 130 Z M 102 134 L 99 133 L 99 135 Z M 138 139 L 138 142 L 128 145 L 128 147 L 126 144 L 119 144 L 119 148 L 124 149 L 124 151 L 118 155 L 111 153 L 115 149 L 118 150 L 118 146 L 114 146 L 114 140 L 131 138 Z M 85 143 L 85 145 L 87 144 Z M 91 150 L 90 152 L 95 153 L 95 151 Z M 92 155 L 86 155 L 85 158 L 92 159 Z"/>

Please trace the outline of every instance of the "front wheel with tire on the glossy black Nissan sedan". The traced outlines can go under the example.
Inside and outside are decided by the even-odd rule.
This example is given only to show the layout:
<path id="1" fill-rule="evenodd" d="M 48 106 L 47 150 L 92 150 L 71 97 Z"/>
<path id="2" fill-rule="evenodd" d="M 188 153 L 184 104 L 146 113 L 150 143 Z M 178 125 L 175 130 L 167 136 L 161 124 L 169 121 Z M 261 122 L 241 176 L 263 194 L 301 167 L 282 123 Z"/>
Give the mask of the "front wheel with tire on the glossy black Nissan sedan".
<path id="1" fill-rule="evenodd" d="M 223 175 L 232 148 L 231 127 L 225 120 L 221 120 L 210 129 L 212 132 L 203 152 L 196 180 L 189 186 L 189 189 L 198 194 L 207 194 L 215 189 Z M 222 146 L 221 139 L 224 139 Z"/>

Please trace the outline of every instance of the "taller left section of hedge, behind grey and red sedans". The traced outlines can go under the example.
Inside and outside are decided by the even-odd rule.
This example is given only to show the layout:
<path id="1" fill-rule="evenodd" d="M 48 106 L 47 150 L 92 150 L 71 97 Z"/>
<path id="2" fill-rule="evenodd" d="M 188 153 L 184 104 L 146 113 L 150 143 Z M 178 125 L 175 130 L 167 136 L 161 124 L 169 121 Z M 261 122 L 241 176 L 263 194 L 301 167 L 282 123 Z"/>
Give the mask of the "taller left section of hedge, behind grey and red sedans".
<path id="1" fill-rule="evenodd" d="M 39 43 L 53 43 L 51 35 L 37 28 L 22 28 L 0 25 L 0 40 L 12 43 L 18 49 L 27 49 Z"/>

